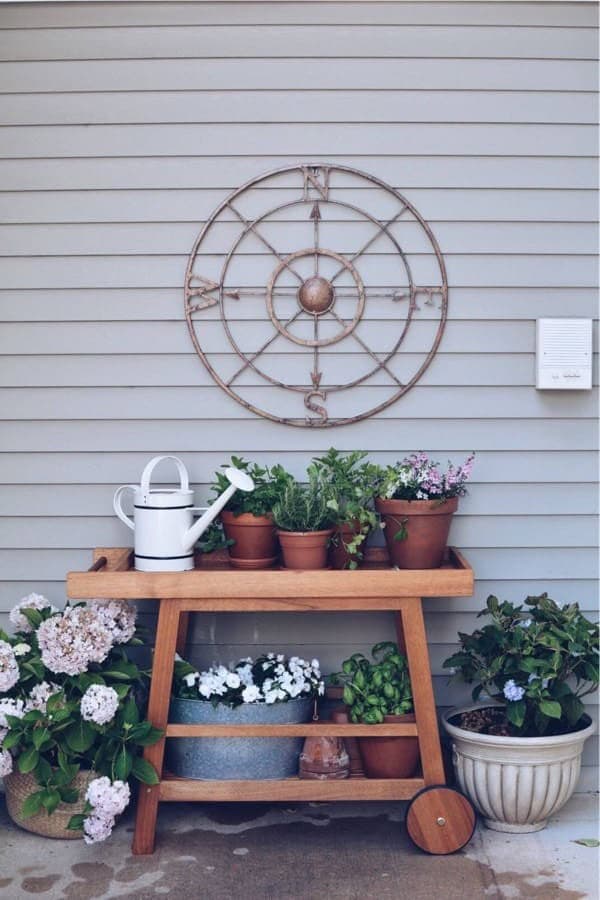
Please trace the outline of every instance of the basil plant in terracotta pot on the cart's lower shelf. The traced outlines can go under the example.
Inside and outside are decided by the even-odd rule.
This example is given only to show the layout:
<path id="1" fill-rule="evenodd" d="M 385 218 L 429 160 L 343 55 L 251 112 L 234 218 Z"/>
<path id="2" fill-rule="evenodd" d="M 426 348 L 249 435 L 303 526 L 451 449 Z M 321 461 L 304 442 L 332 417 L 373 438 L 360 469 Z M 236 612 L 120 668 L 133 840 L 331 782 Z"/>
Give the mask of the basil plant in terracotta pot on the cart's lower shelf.
<path id="1" fill-rule="evenodd" d="M 371 650 L 373 661 L 355 653 L 330 676 L 343 684 L 342 699 L 351 722 L 377 725 L 415 721 L 406 658 L 385 641 Z M 357 740 L 367 778 L 410 778 L 419 762 L 416 737 L 361 737 Z"/>

